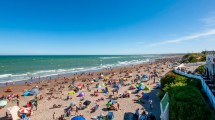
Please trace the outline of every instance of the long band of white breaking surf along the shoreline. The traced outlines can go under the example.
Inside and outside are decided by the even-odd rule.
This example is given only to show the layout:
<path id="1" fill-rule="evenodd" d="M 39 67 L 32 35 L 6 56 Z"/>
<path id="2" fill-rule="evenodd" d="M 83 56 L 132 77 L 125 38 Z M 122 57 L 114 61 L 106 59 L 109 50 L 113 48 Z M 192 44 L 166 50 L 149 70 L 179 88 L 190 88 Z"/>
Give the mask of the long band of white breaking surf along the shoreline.
<path id="1" fill-rule="evenodd" d="M 0 83 L 5 83 L 8 81 L 23 81 L 23 80 L 30 80 L 32 77 L 39 77 L 45 78 L 49 76 L 57 76 L 57 75 L 64 75 L 64 74 L 72 74 L 78 72 L 87 72 L 87 71 L 95 71 L 104 68 L 113 68 L 113 67 L 120 67 L 120 66 L 127 66 L 127 65 L 134 65 L 134 64 L 141 64 L 148 62 L 149 59 L 144 60 L 131 60 L 131 61 L 118 61 L 116 64 L 104 64 L 100 66 L 93 66 L 88 68 L 71 68 L 71 69 L 57 69 L 57 70 L 41 70 L 36 72 L 27 72 L 25 74 L 4 74 L 0 75 Z"/>

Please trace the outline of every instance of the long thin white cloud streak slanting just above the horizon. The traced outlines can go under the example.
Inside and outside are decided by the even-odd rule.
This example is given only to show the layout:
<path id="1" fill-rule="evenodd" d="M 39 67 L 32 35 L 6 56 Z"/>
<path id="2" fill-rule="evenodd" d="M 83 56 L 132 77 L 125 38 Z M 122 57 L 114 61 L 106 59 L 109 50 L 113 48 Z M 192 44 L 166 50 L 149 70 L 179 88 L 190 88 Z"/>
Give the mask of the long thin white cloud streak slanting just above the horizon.
<path id="1" fill-rule="evenodd" d="M 170 44 L 170 43 L 178 43 L 178 42 L 183 42 L 183 41 L 190 41 L 190 40 L 195 40 L 197 38 L 201 38 L 201 37 L 207 37 L 210 35 L 215 35 L 215 29 L 209 30 L 207 32 L 202 32 L 202 33 L 196 33 L 193 35 L 188 35 L 188 36 L 183 36 L 180 38 L 176 38 L 173 40 L 166 40 L 166 41 L 161 41 L 161 42 L 157 42 L 157 43 L 153 43 L 148 45 L 149 47 L 154 47 L 154 46 L 159 46 L 159 45 L 164 45 L 164 44 Z"/>

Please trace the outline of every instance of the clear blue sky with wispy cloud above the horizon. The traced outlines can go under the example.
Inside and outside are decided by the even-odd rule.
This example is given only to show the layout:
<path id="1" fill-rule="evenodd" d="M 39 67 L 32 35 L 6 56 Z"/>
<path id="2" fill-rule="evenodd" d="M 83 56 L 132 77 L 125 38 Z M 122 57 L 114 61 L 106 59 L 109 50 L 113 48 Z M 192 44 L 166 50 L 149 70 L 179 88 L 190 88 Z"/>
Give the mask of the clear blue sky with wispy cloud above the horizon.
<path id="1" fill-rule="evenodd" d="M 215 0 L 2 0 L 0 55 L 215 50 Z"/>

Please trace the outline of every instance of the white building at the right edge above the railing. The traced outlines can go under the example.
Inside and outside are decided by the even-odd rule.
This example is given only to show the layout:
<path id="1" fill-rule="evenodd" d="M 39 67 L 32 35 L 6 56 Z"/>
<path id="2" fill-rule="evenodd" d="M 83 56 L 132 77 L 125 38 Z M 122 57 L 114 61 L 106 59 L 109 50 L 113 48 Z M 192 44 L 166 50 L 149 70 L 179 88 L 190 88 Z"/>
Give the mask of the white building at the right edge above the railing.
<path id="1" fill-rule="evenodd" d="M 215 51 L 207 51 L 205 70 L 206 76 L 215 83 Z"/>

